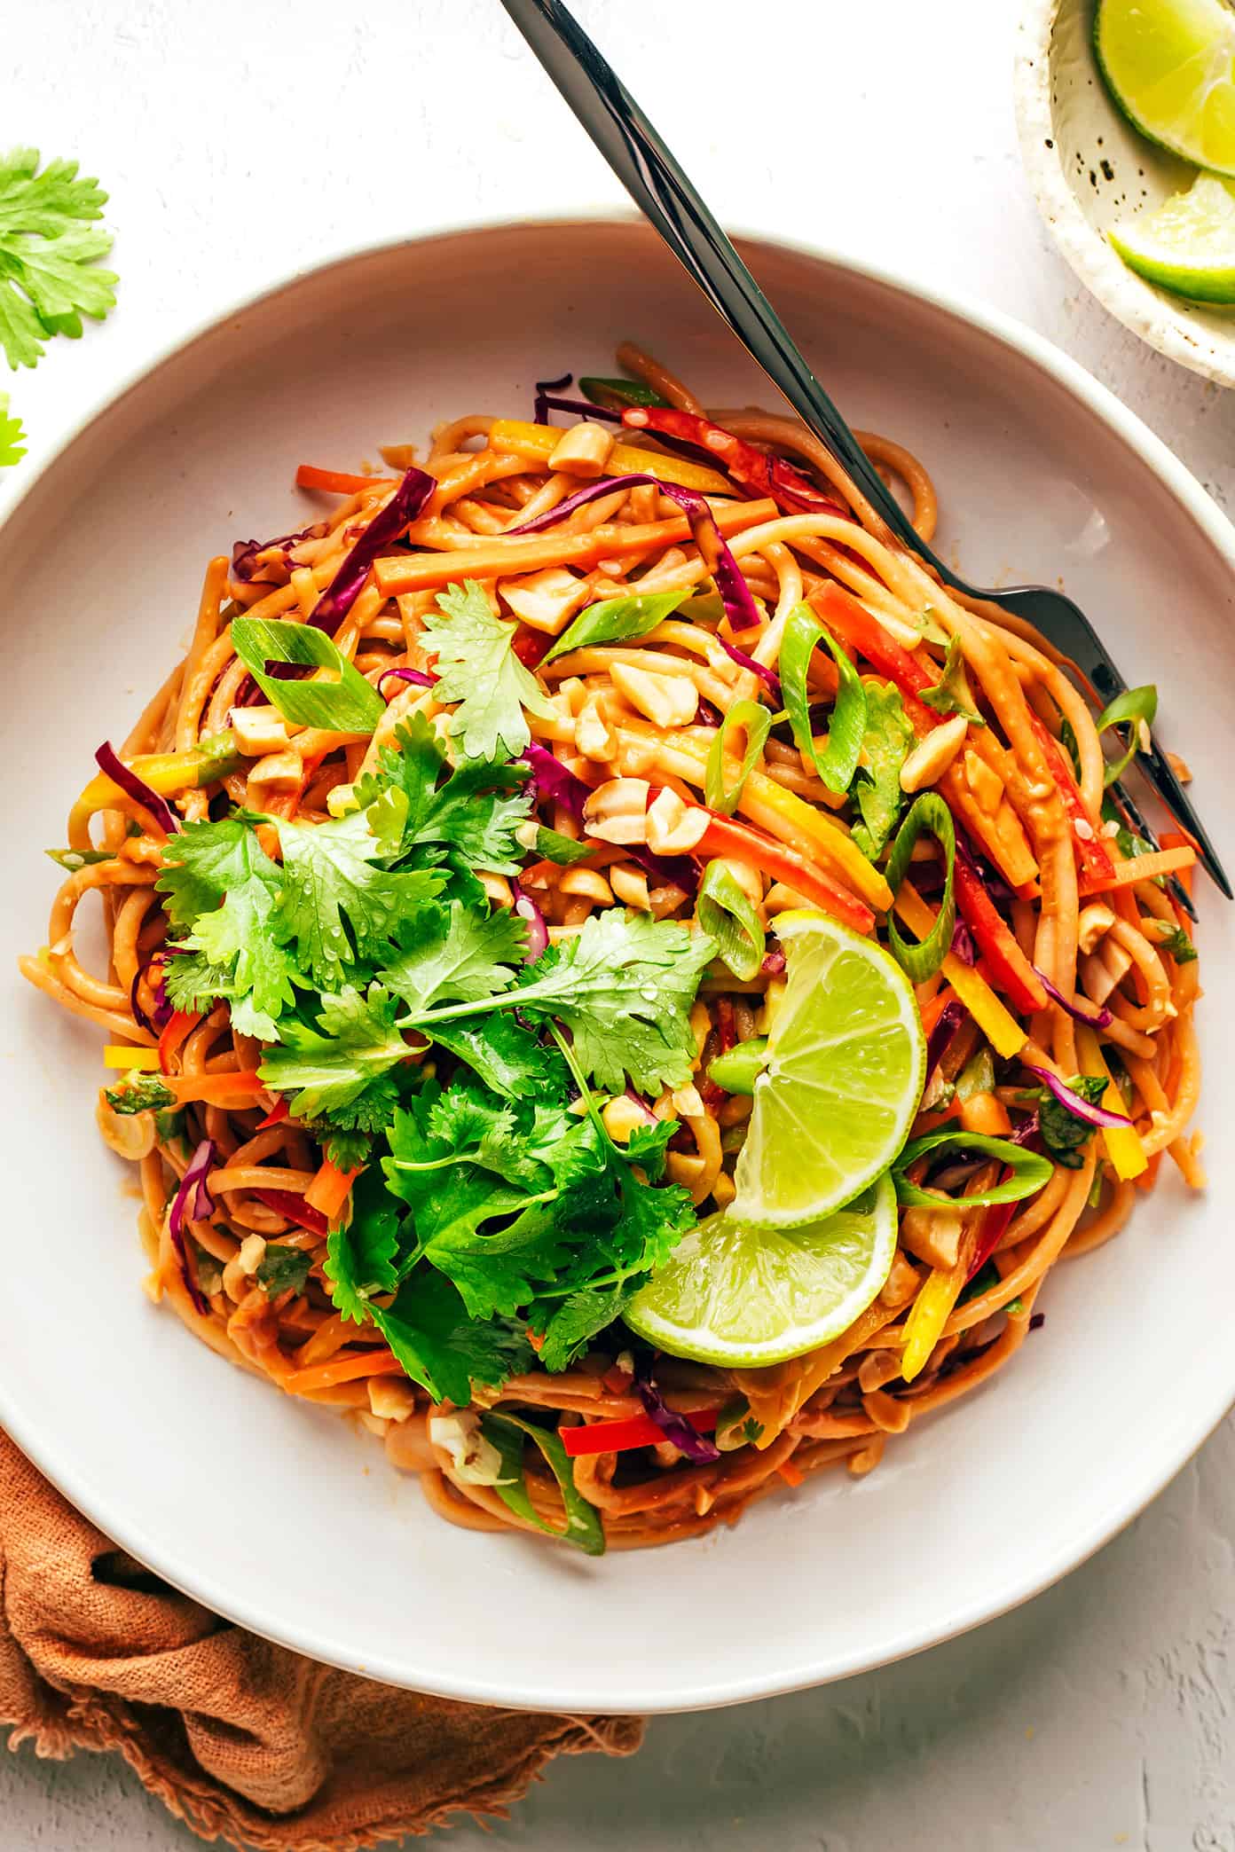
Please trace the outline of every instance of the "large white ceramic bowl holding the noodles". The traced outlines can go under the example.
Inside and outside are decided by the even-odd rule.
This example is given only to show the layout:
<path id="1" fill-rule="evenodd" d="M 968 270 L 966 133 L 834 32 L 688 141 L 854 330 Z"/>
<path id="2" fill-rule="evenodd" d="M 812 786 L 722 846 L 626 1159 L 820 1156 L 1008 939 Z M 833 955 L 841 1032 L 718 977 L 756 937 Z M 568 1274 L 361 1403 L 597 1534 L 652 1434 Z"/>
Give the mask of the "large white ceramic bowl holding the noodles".
<path id="1" fill-rule="evenodd" d="M 855 424 L 929 459 L 942 548 L 978 580 L 1063 576 L 1131 682 L 1155 678 L 1235 859 L 1235 533 L 1109 393 L 1011 322 L 817 254 L 752 263 Z M 4 969 L 44 935 L 41 850 L 189 632 L 204 559 L 304 519 L 298 461 L 354 469 L 531 382 L 605 372 L 633 335 L 705 400 L 768 396 L 652 233 L 498 226 L 335 263 L 239 307 L 113 398 L 0 532 L 9 724 Z M 1235 917 L 1204 895 L 1202 1122 L 1235 1117 Z M 100 1146 L 100 1033 L 9 980 L 0 1420 L 106 1532 L 274 1639 L 394 1683 L 552 1709 L 674 1709 L 894 1659 L 1079 1563 L 1235 1396 L 1211 1317 L 1235 1176 L 1168 1172 L 1118 1241 L 1063 1267 L 1015 1367 L 733 1532 L 602 1561 L 454 1530 L 378 1445 L 222 1365 L 141 1293 L 131 1172 Z M 1224 1046 L 1226 1045 L 1226 1046 Z"/>

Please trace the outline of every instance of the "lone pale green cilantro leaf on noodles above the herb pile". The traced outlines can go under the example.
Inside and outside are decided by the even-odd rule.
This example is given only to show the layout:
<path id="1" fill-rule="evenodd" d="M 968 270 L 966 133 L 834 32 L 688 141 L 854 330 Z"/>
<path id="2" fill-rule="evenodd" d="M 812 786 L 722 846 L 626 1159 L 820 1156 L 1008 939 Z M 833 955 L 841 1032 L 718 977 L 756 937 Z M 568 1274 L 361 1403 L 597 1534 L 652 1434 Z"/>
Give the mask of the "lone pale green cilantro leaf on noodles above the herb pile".
<path id="1" fill-rule="evenodd" d="M 439 593 L 424 624 L 424 648 L 437 652 L 433 698 L 457 702 L 450 737 L 467 759 L 517 759 L 531 739 L 524 707 L 544 719 L 554 707 L 511 648 L 515 626 L 493 615 L 476 580 Z"/>

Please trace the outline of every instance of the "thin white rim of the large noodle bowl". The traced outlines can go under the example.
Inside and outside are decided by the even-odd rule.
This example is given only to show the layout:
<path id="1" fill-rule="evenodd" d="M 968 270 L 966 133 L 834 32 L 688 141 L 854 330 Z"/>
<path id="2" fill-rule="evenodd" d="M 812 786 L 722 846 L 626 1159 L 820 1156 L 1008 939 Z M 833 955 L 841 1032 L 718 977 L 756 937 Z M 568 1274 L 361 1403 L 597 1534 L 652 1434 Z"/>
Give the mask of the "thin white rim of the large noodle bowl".
<path id="1" fill-rule="evenodd" d="M 1044 4 L 1054 6 L 1055 0 L 1044 0 Z M 231 317 L 263 306 L 280 294 L 291 293 L 298 285 L 317 280 L 330 270 L 343 270 L 346 265 L 394 254 L 407 246 L 424 244 L 433 239 L 467 235 L 483 237 L 485 233 L 509 230 L 568 230 L 572 226 L 630 228 L 644 226 L 644 220 L 637 213 L 622 207 L 611 207 L 609 204 L 587 209 L 574 207 L 561 213 L 537 213 L 535 219 L 528 220 L 452 219 L 430 224 L 415 235 L 365 241 L 356 246 L 331 252 L 318 265 L 289 270 L 259 289 L 246 291 L 228 306 L 196 320 L 187 333 L 163 343 L 152 357 L 146 357 L 143 363 L 128 369 L 119 383 L 96 393 L 89 400 L 81 417 L 59 437 L 48 456 L 35 467 L 20 494 L 17 494 L 15 500 L 0 513 L 0 535 L 17 517 L 19 509 L 26 506 L 35 487 L 56 469 L 74 443 L 100 417 L 119 406 L 131 391 L 187 352 L 193 344 L 213 335 Z M 1122 444 L 1154 472 L 1154 476 L 1192 519 L 1194 526 L 1209 541 L 1215 552 L 1226 559 L 1231 570 L 1235 570 L 1235 524 L 1228 520 L 1200 482 L 1189 469 L 1185 469 L 1183 463 L 1179 463 L 1163 439 L 1159 439 L 1105 385 L 1094 380 L 1078 361 L 1070 359 L 1061 348 L 1039 335 L 1035 330 L 1000 309 L 965 296 L 963 293 L 937 289 L 935 285 L 924 283 L 911 274 L 902 274 L 883 265 L 868 263 L 867 259 L 855 257 L 839 248 L 828 248 L 805 239 L 772 237 L 750 228 L 735 228 L 733 235 L 744 243 L 787 250 L 815 263 L 831 265 L 837 270 L 872 282 L 898 294 L 913 294 L 929 307 L 963 322 L 972 332 L 987 335 L 1002 346 L 1011 348 L 1020 357 L 1031 361 L 1092 415 L 1096 415 L 1122 441 Z M 467 1667 L 461 1667 L 461 1676 L 450 1680 L 435 1678 L 431 1687 L 426 1687 L 420 1680 L 413 1678 L 409 1682 L 407 1667 L 393 1659 L 383 1659 L 381 1654 L 370 1652 L 367 1661 L 357 1665 L 356 1654 L 348 1652 L 346 1646 L 331 1635 L 328 1622 L 306 1619 L 296 1633 L 272 1633 L 268 1622 L 263 1620 L 263 1615 L 252 1611 L 241 1595 L 233 1589 L 220 1589 L 213 1583 L 209 1565 L 204 1565 L 200 1572 L 194 1570 L 193 1574 L 187 1574 L 181 1563 L 168 1565 L 157 1539 L 144 1535 L 139 1524 L 130 1524 L 122 1511 L 113 1513 L 100 1509 L 89 1491 L 81 1495 L 78 1472 L 74 1470 L 70 1454 L 65 1456 L 63 1448 L 57 1448 L 56 1441 L 46 1445 L 46 1435 L 37 1432 L 37 1420 L 26 1422 L 20 1413 L 7 1404 L 9 1398 L 0 1374 L 0 1424 L 70 1504 L 74 1504 L 87 1519 L 91 1519 L 91 1522 L 106 1532 L 120 1548 L 128 1550 L 172 1587 L 180 1589 L 189 1598 L 202 1602 L 224 1619 L 248 1628 L 259 1637 L 270 1639 L 276 1645 L 287 1646 L 320 1663 L 357 1672 L 365 1678 L 404 1689 L 431 1689 L 435 1695 L 463 1702 L 524 1709 L 672 1713 L 715 1709 L 728 1704 L 780 1696 L 791 1691 L 802 1691 L 861 1672 L 878 1671 L 879 1667 L 892 1665 L 917 1652 L 924 1652 L 931 1646 L 942 1645 L 944 1641 L 955 1639 L 970 1628 L 981 1626 L 985 1620 L 994 1620 L 1018 1608 L 1022 1602 L 1031 1600 L 1035 1595 L 1041 1595 L 1118 1535 L 1118 1532 L 1139 1517 L 1139 1513 L 1144 1511 L 1144 1508 L 1176 1478 L 1176 1474 L 1183 1470 L 1189 1459 L 1192 1459 L 1220 1420 L 1235 1406 L 1235 1372 L 1231 1374 L 1231 1382 L 1222 1395 L 1211 1398 L 1211 1402 L 1204 1408 L 1200 1420 L 1189 1419 L 1176 1422 L 1174 1446 L 1170 1450 L 1163 1450 L 1163 1456 L 1159 1456 L 1154 1463 L 1146 1463 L 1139 1474 L 1128 1476 L 1122 1496 L 1116 1504 L 1107 1508 L 1102 1520 L 1091 1524 L 1070 1541 L 1061 1543 L 1048 1559 L 1037 1561 L 1031 1570 L 1026 1570 L 1018 1578 L 1011 1580 L 998 1600 L 976 1598 L 968 1604 L 959 1600 L 952 1606 L 942 1628 L 935 1624 L 904 1626 L 900 1633 L 885 1637 L 876 1652 L 857 1652 L 837 1659 L 828 1658 L 826 1650 L 815 1648 L 796 1663 L 785 1665 L 785 1669 L 774 1678 L 730 1676 L 707 1685 L 676 1689 L 659 1700 L 655 1696 L 648 1700 L 635 1693 L 617 1695 L 615 1700 L 613 1696 L 605 1696 L 604 1691 L 598 1691 L 594 1696 L 580 1698 L 578 1691 L 554 1693 L 544 1687 L 526 1687 L 522 1691 L 511 1689 L 509 1685 L 498 1687 L 485 1676 L 470 1672 Z"/>

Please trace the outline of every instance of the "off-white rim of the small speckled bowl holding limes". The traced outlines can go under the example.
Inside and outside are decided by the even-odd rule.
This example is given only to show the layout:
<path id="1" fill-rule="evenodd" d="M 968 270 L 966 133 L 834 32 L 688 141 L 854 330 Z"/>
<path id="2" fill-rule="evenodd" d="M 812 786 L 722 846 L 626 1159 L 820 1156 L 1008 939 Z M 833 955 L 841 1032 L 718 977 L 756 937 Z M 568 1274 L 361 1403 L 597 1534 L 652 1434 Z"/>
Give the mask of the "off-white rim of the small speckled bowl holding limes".
<path id="1" fill-rule="evenodd" d="M 1226 346 L 1211 330 L 1200 333 L 1181 306 L 1128 269 L 1076 202 L 1063 170 L 1050 102 L 1050 44 L 1061 4 L 1026 0 L 1017 28 L 1017 133 L 1042 224 L 1081 283 L 1124 328 L 1215 385 L 1235 385 L 1235 328 Z"/>

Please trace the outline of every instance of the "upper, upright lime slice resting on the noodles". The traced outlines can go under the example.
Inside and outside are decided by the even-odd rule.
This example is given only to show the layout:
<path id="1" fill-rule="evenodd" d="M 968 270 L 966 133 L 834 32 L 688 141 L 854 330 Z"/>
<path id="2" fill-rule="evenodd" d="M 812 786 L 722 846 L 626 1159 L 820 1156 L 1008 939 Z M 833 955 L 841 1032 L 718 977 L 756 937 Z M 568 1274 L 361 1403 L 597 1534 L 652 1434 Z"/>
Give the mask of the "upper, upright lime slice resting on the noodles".
<path id="1" fill-rule="evenodd" d="M 818 1222 L 881 1176 L 926 1082 L 913 985 L 872 939 L 822 913 L 781 913 L 787 987 L 737 1159 L 733 1215 Z"/>

